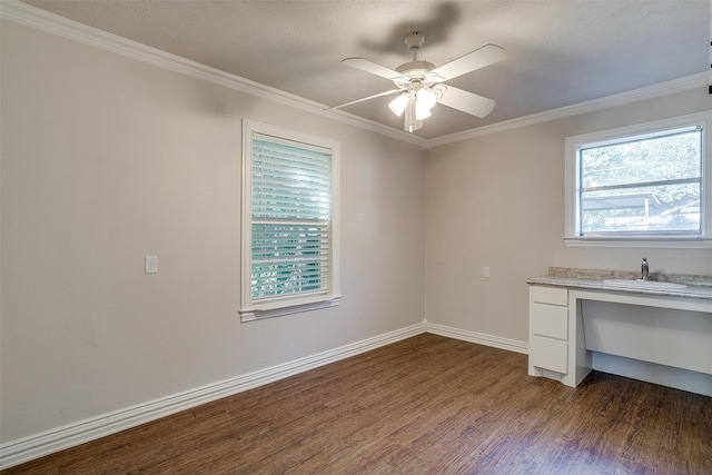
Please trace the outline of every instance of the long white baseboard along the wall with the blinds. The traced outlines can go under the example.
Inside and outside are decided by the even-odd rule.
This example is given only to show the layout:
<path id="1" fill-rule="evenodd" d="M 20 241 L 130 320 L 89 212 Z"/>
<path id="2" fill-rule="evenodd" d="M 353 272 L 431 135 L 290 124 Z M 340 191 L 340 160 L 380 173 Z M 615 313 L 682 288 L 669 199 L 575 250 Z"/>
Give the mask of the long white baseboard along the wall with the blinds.
<path id="1" fill-rule="evenodd" d="M 140 424 L 156 420 L 226 396 L 231 396 L 339 359 L 369 352 L 422 333 L 425 333 L 424 323 L 12 441 L 0 446 L 0 469 L 63 451 L 89 441 L 95 441 L 130 427 L 136 427 Z"/>

